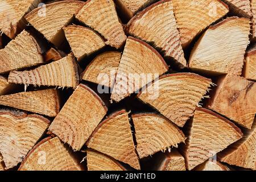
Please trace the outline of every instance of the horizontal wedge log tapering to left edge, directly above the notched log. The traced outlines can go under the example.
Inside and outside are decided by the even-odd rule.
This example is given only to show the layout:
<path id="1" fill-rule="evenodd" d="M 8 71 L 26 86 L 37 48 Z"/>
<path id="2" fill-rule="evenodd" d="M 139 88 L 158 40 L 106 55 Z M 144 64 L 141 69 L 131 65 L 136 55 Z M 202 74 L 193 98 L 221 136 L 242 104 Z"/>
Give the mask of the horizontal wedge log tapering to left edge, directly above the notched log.
<path id="1" fill-rule="evenodd" d="M 0 105 L 55 117 L 60 110 L 59 94 L 55 89 L 20 92 L 0 96 Z"/>

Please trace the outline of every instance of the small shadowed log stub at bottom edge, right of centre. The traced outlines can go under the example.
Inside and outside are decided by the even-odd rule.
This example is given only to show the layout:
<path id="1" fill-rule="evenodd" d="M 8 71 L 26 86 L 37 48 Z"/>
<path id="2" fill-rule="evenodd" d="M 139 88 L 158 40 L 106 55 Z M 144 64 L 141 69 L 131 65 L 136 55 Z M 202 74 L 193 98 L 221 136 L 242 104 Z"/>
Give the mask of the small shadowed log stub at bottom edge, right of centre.
<path id="1" fill-rule="evenodd" d="M 157 171 L 186 171 L 185 159 L 177 150 L 166 152 L 161 158 Z"/>

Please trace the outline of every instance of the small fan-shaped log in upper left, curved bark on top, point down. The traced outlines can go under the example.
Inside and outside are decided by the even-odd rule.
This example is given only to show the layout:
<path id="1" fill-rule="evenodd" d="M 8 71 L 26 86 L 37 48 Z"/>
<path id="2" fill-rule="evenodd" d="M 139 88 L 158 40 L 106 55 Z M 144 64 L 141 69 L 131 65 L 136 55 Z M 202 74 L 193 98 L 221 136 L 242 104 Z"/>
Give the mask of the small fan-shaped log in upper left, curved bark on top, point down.
<path id="1" fill-rule="evenodd" d="M 63 28 L 65 36 L 78 60 L 105 47 L 105 42 L 90 28 L 71 25 Z"/>

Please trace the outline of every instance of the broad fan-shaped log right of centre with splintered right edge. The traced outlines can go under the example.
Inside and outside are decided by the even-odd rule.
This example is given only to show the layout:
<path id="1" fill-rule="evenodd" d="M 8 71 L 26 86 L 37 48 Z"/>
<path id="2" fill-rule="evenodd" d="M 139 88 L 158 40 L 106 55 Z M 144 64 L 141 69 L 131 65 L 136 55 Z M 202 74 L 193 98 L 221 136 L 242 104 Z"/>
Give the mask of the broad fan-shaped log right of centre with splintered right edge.
<path id="1" fill-rule="evenodd" d="M 176 125 L 183 127 L 209 90 L 211 80 L 194 73 L 165 75 L 138 94 Z"/>

